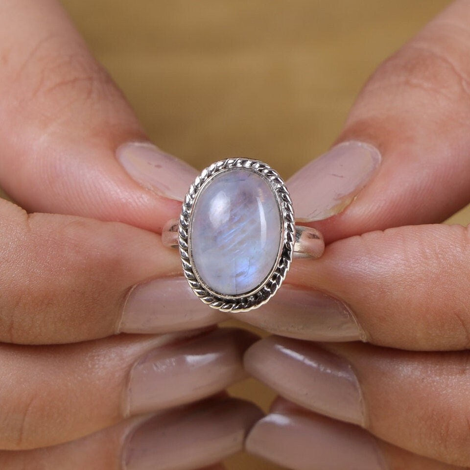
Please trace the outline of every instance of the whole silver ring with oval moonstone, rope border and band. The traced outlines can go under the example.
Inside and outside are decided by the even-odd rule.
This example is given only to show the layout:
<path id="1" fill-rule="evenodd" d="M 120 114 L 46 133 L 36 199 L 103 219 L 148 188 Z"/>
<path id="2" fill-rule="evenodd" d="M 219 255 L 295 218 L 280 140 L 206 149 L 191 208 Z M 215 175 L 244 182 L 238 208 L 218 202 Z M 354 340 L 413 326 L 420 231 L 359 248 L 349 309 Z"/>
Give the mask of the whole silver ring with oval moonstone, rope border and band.
<path id="1" fill-rule="evenodd" d="M 323 236 L 295 225 L 279 174 L 258 160 L 228 159 L 205 168 L 189 187 L 180 219 L 163 243 L 179 247 L 186 279 L 212 308 L 248 311 L 281 286 L 294 253 L 319 258 Z"/>

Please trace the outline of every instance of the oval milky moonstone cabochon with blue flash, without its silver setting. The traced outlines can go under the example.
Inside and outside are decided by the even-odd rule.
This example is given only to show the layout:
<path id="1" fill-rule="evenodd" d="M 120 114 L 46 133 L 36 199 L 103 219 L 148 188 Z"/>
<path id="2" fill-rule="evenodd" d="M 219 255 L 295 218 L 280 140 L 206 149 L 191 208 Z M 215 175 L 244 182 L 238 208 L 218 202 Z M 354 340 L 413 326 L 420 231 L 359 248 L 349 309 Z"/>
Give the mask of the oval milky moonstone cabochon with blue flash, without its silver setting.
<path id="1" fill-rule="evenodd" d="M 248 293 L 277 262 L 281 229 L 278 200 L 269 183 L 246 168 L 223 171 L 193 206 L 193 269 L 213 292 Z"/>

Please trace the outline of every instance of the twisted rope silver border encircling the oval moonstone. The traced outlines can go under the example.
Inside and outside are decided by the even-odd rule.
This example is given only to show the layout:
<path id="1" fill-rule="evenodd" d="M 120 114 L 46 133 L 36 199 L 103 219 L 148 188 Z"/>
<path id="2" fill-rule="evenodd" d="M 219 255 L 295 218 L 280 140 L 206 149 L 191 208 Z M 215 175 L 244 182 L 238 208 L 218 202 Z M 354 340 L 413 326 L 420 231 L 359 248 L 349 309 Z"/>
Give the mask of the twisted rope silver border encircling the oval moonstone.
<path id="1" fill-rule="evenodd" d="M 252 171 L 261 174 L 274 189 L 281 204 L 282 222 L 284 226 L 284 240 L 277 266 L 269 279 L 261 284 L 256 292 L 244 297 L 233 299 L 210 293 L 198 281 L 192 269 L 189 257 L 188 227 L 194 201 L 204 183 L 214 174 L 219 173 L 220 171 L 227 170 L 229 168 L 240 167 L 249 168 Z M 194 293 L 201 299 L 202 302 L 208 304 L 212 308 L 217 308 L 225 312 L 243 312 L 257 308 L 260 305 L 266 303 L 279 289 L 282 281 L 287 275 L 290 263 L 292 261 L 295 243 L 295 218 L 289 191 L 285 187 L 284 181 L 279 176 L 277 171 L 273 170 L 268 164 L 260 162 L 259 160 L 237 158 L 215 162 L 205 168 L 201 174 L 196 177 L 194 183 L 189 187 L 181 209 L 178 232 L 178 244 L 185 277 Z"/>

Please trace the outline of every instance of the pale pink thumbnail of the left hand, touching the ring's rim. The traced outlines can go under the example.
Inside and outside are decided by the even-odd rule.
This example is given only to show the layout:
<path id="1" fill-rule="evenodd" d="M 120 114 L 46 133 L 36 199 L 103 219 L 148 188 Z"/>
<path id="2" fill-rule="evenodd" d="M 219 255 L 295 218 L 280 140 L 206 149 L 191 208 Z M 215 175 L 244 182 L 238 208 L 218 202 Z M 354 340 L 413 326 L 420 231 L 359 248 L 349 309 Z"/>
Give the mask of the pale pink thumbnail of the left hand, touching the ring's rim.
<path id="1" fill-rule="evenodd" d="M 191 165 L 147 142 L 129 142 L 116 151 L 118 161 L 144 188 L 183 201 L 198 172 Z"/>

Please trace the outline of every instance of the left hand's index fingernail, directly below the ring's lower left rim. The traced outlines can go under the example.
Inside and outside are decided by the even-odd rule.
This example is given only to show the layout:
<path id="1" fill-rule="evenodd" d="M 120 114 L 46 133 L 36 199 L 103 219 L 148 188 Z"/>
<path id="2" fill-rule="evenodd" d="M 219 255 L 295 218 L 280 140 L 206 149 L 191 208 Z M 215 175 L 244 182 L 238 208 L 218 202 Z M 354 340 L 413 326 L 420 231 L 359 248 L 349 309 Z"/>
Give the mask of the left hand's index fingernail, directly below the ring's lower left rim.
<path id="1" fill-rule="evenodd" d="M 203 328 L 227 315 L 202 303 L 182 277 L 168 277 L 139 284 L 124 305 L 119 332 L 165 333 Z"/>

